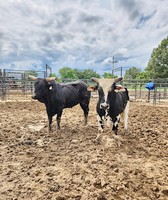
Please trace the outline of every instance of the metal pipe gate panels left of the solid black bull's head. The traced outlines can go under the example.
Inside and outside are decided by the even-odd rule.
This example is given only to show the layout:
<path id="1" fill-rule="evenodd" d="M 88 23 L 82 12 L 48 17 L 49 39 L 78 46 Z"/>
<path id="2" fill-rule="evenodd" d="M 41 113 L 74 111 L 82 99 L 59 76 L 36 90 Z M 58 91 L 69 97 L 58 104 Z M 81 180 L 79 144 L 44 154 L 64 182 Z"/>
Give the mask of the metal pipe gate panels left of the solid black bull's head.
<path id="1" fill-rule="evenodd" d="M 32 92 L 34 84 L 28 75 L 46 77 L 46 71 L 0 70 L 0 100 L 25 100 Z"/>

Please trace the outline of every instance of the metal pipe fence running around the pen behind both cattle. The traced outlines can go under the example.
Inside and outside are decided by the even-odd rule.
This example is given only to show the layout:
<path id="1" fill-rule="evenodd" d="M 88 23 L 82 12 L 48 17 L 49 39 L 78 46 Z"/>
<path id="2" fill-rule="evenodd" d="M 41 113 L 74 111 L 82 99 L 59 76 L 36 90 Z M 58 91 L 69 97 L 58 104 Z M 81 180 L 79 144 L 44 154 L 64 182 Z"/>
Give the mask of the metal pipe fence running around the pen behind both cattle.
<path id="1" fill-rule="evenodd" d="M 34 81 L 28 79 L 28 72 L 21 70 L 4 70 L 0 74 L 0 100 L 26 100 L 34 91 Z M 45 77 L 45 71 L 37 71 L 38 77 Z M 40 74 L 40 76 L 39 76 Z M 62 82 L 75 81 L 64 79 Z M 83 80 L 88 85 L 93 85 L 91 80 Z M 155 83 L 155 89 L 149 91 L 145 88 L 146 83 L 152 81 Z M 130 99 L 134 101 L 162 102 L 168 100 L 168 79 L 144 79 L 144 80 L 125 80 L 121 84 L 129 90 Z M 97 93 L 93 93 L 97 95 Z"/>

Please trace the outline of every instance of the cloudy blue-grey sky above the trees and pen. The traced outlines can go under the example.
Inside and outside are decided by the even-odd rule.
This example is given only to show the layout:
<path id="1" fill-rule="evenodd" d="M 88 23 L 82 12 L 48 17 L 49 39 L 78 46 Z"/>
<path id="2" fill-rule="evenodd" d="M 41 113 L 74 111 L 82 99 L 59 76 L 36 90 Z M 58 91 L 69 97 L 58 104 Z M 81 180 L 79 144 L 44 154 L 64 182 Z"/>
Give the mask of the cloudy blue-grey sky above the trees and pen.
<path id="1" fill-rule="evenodd" d="M 144 69 L 168 35 L 168 0 L 0 0 L 0 68 Z"/>

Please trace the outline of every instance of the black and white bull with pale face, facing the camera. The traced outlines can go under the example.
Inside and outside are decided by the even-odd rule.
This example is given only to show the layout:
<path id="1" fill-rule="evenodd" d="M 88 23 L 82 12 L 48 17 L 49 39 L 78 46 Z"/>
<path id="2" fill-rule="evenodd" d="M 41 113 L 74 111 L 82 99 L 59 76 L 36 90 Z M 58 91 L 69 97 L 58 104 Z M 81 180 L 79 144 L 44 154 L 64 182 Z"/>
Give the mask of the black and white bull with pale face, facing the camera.
<path id="1" fill-rule="evenodd" d="M 92 78 L 97 85 L 89 87 L 88 90 L 98 90 L 99 99 L 96 110 L 98 113 L 98 128 L 101 132 L 104 129 L 104 120 L 108 126 L 112 126 L 112 130 L 117 138 L 118 124 L 121 114 L 124 115 L 124 129 L 127 131 L 129 96 L 127 88 L 116 85 L 122 78 L 116 79 L 98 79 Z M 97 139 L 99 139 L 98 134 Z"/>

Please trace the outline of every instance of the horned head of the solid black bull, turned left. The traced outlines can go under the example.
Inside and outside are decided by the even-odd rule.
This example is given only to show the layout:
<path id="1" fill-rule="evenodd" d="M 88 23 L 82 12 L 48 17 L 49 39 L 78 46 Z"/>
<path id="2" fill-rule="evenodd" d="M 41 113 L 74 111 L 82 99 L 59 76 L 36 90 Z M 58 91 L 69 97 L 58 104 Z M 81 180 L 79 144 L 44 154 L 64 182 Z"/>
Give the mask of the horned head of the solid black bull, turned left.
<path id="1" fill-rule="evenodd" d="M 29 78 L 35 80 L 34 95 L 32 98 L 44 103 L 46 96 L 52 90 L 52 81 L 55 80 L 55 77 L 37 78 L 34 76 L 29 76 Z"/>

